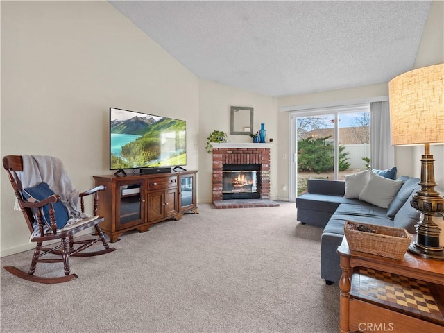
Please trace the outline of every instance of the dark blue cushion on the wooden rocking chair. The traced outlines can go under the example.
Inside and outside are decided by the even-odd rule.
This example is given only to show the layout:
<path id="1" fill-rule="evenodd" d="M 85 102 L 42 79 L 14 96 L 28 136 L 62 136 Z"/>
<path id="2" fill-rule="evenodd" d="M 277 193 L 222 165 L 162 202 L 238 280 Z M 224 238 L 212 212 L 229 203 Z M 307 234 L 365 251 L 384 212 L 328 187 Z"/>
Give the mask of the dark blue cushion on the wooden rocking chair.
<path id="1" fill-rule="evenodd" d="M 24 198 L 30 203 L 40 202 L 49 196 L 54 195 L 55 193 L 49 188 L 49 185 L 46 182 L 40 182 L 33 187 L 28 187 L 27 189 L 23 189 L 22 194 Z M 56 224 L 57 228 L 63 228 L 68 221 L 68 210 L 67 207 L 61 202 L 53 203 L 54 212 L 56 213 Z M 43 207 L 43 219 L 44 223 L 51 227 L 51 220 L 49 219 L 49 205 L 45 205 Z"/>

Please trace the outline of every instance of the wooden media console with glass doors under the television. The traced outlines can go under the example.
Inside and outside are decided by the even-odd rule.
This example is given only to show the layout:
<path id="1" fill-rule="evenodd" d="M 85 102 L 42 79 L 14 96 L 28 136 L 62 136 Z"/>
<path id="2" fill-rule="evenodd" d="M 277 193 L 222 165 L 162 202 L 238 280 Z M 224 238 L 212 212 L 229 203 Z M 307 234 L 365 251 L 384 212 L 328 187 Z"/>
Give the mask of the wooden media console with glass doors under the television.
<path id="1" fill-rule="evenodd" d="M 101 229 L 114 242 L 123 232 L 145 232 L 154 223 L 179 220 L 186 212 L 197 214 L 197 172 L 93 176 L 96 186 L 106 187 L 99 192 L 99 215 L 105 216 Z"/>

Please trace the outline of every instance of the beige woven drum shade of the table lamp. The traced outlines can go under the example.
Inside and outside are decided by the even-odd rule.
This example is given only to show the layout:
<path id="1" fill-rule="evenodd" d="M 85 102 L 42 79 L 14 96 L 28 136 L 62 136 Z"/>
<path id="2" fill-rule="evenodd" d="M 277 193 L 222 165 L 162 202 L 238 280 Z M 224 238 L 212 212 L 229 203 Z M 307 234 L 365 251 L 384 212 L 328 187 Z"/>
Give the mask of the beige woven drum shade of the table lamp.
<path id="1" fill-rule="evenodd" d="M 388 89 L 393 146 L 444 143 L 444 64 L 396 76 Z"/>

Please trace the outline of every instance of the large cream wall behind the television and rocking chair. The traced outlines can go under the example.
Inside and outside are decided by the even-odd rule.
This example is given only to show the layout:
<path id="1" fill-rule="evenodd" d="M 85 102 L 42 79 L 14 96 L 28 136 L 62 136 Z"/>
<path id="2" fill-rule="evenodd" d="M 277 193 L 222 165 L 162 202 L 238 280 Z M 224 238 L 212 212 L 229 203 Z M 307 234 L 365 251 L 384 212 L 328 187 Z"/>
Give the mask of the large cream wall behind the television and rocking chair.
<path id="1" fill-rule="evenodd" d="M 1 1 L 1 155 L 54 155 L 80 191 L 110 173 L 108 108 L 187 121 L 198 169 L 198 78 L 106 1 Z M 1 255 L 30 248 L 6 172 Z"/>

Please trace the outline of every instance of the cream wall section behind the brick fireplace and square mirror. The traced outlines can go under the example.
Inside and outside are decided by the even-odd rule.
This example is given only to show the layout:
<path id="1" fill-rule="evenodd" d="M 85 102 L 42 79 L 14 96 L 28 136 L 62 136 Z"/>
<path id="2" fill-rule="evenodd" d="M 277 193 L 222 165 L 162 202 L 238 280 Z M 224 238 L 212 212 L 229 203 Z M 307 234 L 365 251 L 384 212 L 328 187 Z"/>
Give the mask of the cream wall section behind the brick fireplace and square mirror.
<path id="1" fill-rule="evenodd" d="M 221 85 L 208 80 L 200 80 L 199 87 L 199 201 L 212 202 L 212 155 L 206 153 L 207 136 L 213 130 L 228 133 L 228 142 L 252 142 L 248 135 L 230 135 L 230 108 L 246 106 L 253 108 L 253 130 L 259 130 L 265 123 L 266 142 L 273 138 L 271 148 L 270 196 L 277 197 L 278 161 L 276 158 L 278 140 L 278 119 L 276 117 L 275 99 L 270 96 L 246 92 L 241 89 Z M 287 140 L 287 138 L 283 138 Z M 287 140 L 288 141 L 288 140 Z"/>

